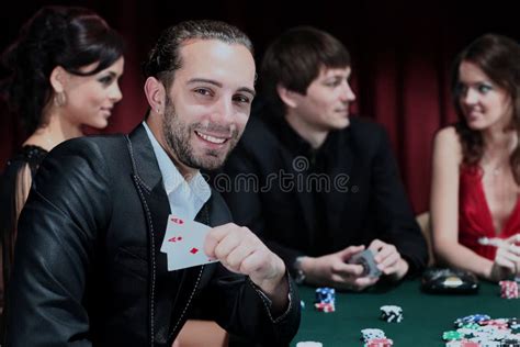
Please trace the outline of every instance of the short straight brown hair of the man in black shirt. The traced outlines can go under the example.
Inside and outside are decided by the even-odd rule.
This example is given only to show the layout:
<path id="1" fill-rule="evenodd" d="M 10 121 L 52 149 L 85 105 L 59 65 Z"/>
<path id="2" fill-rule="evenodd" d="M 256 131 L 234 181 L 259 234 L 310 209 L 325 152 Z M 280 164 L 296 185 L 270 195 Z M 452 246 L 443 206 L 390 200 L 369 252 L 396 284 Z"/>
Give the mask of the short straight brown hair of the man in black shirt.
<path id="1" fill-rule="evenodd" d="M 273 111 L 283 113 L 284 105 L 276 92 L 278 85 L 306 94 L 308 86 L 319 76 L 321 68 L 348 66 L 349 52 L 329 33 L 312 26 L 290 29 L 265 51 L 260 70 L 265 101 Z"/>

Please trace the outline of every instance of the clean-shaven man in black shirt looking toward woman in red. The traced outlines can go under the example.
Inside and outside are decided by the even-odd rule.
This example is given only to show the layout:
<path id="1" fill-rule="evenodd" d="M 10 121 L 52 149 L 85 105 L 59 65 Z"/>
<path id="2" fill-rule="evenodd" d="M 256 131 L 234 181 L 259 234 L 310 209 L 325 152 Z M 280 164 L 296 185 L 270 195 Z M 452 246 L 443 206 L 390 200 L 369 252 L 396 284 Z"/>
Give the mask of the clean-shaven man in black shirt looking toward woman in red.
<path id="1" fill-rule="evenodd" d="M 278 37 L 262 61 L 265 104 L 215 184 L 298 282 L 363 290 L 418 273 L 427 250 L 386 133 L 349 114 L 350 75 L 349 53 L 328 33 Z M 369 275 L 349 264 L 364 248 L 377 267 Z"/>

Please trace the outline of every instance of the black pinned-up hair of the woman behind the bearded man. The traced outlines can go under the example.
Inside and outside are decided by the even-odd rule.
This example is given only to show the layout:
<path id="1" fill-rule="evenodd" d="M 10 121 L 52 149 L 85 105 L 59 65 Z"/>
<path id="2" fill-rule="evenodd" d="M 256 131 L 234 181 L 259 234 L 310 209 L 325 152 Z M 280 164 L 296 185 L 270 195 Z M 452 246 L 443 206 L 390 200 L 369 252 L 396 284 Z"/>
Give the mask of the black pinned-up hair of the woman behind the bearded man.
<path id="1" fill-rule="evenodd" d="M 91 76 L 123 55 L 123 40 L 91 10 L 44 7 L 26 22 L 18 40 L 3 53 L 11 75 L 0 91 L 22 119 L 27 133 L 42 123 L 42 111 L 53 97 L 49 77 L 56 66 L 70 74 Z M 80 68 L 98 63 L 90 71 Z"/>

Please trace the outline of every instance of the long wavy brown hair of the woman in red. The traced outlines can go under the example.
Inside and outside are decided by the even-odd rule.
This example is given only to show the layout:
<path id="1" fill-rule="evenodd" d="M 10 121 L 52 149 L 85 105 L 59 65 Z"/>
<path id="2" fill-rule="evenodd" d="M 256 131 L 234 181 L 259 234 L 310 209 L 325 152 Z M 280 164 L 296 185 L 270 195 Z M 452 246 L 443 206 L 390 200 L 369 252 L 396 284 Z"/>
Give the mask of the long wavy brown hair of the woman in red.
<path id="1" fill-rule="evenodd" d="M 486 34 L 471 43 L 456 57 L 452 70 L 452 96 L 459 122 L 455 125 L 461 138 L 463 163 L 476 165 L 484 154 L 482 133 L 467 126 L 460 103 L 459 68 L 463 61 L 476 65 L 497 86 L 504 88 L 511 100 L 510 128 L 520 135 L 520 45 L 506 36 Z M 519 136 L 520 138 L 520 136 Z M 509 164 L 517 184 L 520 184 L 520 144 L 512 152 Z"/>

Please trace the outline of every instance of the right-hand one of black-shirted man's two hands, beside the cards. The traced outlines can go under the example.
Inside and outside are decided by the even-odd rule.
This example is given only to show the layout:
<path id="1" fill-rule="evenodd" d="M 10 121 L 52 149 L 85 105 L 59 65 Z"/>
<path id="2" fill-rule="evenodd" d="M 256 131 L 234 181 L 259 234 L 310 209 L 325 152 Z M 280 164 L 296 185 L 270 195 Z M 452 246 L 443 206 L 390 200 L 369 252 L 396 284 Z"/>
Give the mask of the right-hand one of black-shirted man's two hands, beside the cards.
<path id="1" fill-rule="evenodd" d="M 398 281 L 408 272 L 408 262 L 400 257 L 394 245 L 374 239 L 369 249 L 374 253 L 374 260 L 377 268 L 392 280 Z"/>

